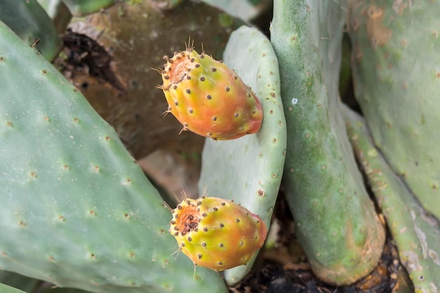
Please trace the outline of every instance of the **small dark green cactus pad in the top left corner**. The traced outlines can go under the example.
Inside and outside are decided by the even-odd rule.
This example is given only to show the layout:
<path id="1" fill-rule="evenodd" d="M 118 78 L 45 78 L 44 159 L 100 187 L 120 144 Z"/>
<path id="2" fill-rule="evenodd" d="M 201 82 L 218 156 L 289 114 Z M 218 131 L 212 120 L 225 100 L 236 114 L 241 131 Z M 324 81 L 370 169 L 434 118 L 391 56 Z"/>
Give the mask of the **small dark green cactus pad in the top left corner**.
<path id="1" fill-rule="evenodd" d="M 27 44 L 34 44 L 47 60 L 53 60 L 60 51 L 62 44 L 56 28 L 36 0 L 1 0 L 0 20 Z"/>

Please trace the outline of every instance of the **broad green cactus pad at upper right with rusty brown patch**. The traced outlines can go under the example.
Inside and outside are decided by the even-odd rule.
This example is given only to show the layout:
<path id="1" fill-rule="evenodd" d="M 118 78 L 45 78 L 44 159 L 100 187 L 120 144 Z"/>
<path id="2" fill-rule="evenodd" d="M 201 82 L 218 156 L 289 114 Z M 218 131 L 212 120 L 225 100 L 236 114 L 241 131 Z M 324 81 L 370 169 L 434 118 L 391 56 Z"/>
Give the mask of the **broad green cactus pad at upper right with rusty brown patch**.
<path id="1" fill-rule="evenodd" d="M 439 4 L 349 3 L 355 94 L 375 145 L 440 219 Z"/>

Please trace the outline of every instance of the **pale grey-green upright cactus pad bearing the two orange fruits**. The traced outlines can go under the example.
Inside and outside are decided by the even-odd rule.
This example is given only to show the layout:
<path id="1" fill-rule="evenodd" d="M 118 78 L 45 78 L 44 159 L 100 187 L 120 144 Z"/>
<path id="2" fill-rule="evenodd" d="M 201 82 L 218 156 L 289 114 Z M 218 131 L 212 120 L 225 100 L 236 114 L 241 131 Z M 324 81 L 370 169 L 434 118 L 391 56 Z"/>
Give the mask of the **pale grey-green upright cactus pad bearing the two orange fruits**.
<path id="1" fill-rule="evenodd" d="M 278 63 L 264 34 L 240 27 L 231 34 L 224 63 L 252 88 L 263 106 L 257 134 L 234 141 L 207 139 L 202 154 L 200 194 L 235 200 L 258 214 L 268 227 L 278 195 L 285 159 L 285 119 L 280 100 Z M 229 284 L 250 271 L 253 261 L 225 272 Z"/>

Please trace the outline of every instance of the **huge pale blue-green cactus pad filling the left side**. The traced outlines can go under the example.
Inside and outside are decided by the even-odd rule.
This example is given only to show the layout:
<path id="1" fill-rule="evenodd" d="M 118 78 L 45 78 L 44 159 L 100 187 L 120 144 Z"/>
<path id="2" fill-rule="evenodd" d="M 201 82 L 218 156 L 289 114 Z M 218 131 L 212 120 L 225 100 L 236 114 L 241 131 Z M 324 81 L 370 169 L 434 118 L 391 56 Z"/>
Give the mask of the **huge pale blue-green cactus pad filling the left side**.
<path id="1" fill-rule="evenodd" d="M 0 268 L 92 292 L 227 292 L 84 96 L 0 22 Z"/>

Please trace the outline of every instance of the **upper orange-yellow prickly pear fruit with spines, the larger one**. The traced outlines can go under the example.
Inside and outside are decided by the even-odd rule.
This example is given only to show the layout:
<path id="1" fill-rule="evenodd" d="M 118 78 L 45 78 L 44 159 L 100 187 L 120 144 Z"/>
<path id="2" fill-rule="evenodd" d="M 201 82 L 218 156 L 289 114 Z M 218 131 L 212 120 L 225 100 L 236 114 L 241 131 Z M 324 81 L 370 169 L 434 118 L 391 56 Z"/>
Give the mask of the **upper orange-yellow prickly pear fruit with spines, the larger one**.
<path id="1" fill-rule="evenodd" d="M 259 131 L 263 108 L 257 96 L 224 63 L 190 47 L 164 60 L 160 89 L 182 131 L 219 140 Z"/>

